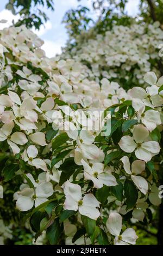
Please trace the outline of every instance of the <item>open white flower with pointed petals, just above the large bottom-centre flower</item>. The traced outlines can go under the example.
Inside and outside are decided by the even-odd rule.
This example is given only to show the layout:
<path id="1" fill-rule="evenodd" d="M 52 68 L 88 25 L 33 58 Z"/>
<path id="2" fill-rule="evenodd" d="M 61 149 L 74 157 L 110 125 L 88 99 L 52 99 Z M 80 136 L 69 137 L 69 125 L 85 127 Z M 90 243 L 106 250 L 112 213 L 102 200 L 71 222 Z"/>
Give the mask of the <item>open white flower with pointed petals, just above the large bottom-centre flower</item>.
<path id="1" fill-rule="evenodd" d="M 94 187 L 101 188 L 103 185 L 116 186 L 116 178 L 104 170 L 103 163 L 93 163 L 92 167 L 89 166 L 84 160 L 81 161 L 84 167 L 84 178 L 92 180 Z"/>

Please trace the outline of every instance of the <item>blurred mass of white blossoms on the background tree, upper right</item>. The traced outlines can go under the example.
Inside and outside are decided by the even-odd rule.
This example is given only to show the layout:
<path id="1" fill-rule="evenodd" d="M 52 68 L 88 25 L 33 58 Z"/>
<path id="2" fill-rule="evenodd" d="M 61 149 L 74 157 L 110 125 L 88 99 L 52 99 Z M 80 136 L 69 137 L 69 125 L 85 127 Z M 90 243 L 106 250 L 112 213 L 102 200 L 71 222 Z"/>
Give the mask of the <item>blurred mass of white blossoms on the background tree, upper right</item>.
<path id="1" fill-rule="evenodd" d="M 129 81 L 137 86 L 144 83 L 147 71 L 158 72 L 155 61 L 159 59 L 162 39 L 159 22 L 153 25 L 133 23 L 128 27 L 113 25 L 104 35 L 90 29 L 77 36 L 75 46 L 67 45 L 62 57 L 86 63 L 92 79 L 99 81 L 100 77 L 106 77 L 123 88 Z"/>

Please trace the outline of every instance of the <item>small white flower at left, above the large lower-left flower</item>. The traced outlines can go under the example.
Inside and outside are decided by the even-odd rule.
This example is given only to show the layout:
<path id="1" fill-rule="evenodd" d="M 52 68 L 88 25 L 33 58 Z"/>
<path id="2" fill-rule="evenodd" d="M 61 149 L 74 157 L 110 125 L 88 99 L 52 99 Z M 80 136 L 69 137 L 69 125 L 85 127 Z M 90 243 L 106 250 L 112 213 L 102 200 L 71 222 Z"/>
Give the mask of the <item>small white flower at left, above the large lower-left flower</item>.
<path id="1" fill-rule="evenodd" d="M 39 158 L 35 158 L 38 155 L 38 150 L 34 145 L 30 145 L 27 150 L 25 149 L 22 158 L 28 164 L 35 166 L 37 169 L 42 169 L 45 172 L 48 170 L 45 161 Z"/>

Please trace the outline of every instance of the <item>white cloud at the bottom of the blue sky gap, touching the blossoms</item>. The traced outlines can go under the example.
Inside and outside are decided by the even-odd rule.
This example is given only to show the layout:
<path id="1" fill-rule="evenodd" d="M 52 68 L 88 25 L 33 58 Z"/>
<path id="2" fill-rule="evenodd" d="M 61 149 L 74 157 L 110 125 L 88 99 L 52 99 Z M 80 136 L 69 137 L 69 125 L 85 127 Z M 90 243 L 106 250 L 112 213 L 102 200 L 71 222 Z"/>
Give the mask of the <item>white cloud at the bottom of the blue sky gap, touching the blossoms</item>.
<path id="1" fill-rule="evenodd" d="M 54 57 L 56 54 L 61 53 L 61 47 L 63 44 L 61 44 L 60 41 L 53 42 L 51 40 L 45 40 L 44 44 L 41 46 L 42 50 L 46 52 L 46 56 L 49 58 Z"/>

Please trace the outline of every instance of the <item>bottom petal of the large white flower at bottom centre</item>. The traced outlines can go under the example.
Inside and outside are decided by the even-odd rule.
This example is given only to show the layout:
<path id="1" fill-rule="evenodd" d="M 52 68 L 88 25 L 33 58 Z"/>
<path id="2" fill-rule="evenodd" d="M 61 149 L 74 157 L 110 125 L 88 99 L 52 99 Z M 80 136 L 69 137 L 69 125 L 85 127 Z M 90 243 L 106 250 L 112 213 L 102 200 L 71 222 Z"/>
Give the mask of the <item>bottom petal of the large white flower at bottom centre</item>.
<path id="1" fill-rule="evenodd" d="M 92 220 L 97 220 L 97 218 L 100 216 L 100 212 L 96 208 L 88 205 L 80 205 L 79 212 L 81 215 L 87 216 Z"/>

